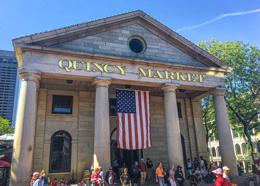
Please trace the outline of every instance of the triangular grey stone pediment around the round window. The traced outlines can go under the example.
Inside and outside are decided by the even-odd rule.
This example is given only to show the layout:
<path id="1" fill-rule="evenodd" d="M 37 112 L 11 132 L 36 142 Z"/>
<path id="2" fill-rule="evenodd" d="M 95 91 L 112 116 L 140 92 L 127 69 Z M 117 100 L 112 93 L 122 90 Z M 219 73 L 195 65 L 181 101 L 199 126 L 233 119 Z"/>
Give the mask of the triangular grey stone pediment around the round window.
<path id="1" fill-rule="evenodd" d="M 98 21 L 53 30 L 47 34 L 24 37 L 20 43 L 167 63 L 232 69 L 142 11 Z M 41 34 L 46 36 L 41 37 Z M 134 37 L 140 38 L 143 42 L 143 52 L 134 53 L 130 50 L 129 40 Z M 19 43 L 19 39 L 13 41 Z"/>

